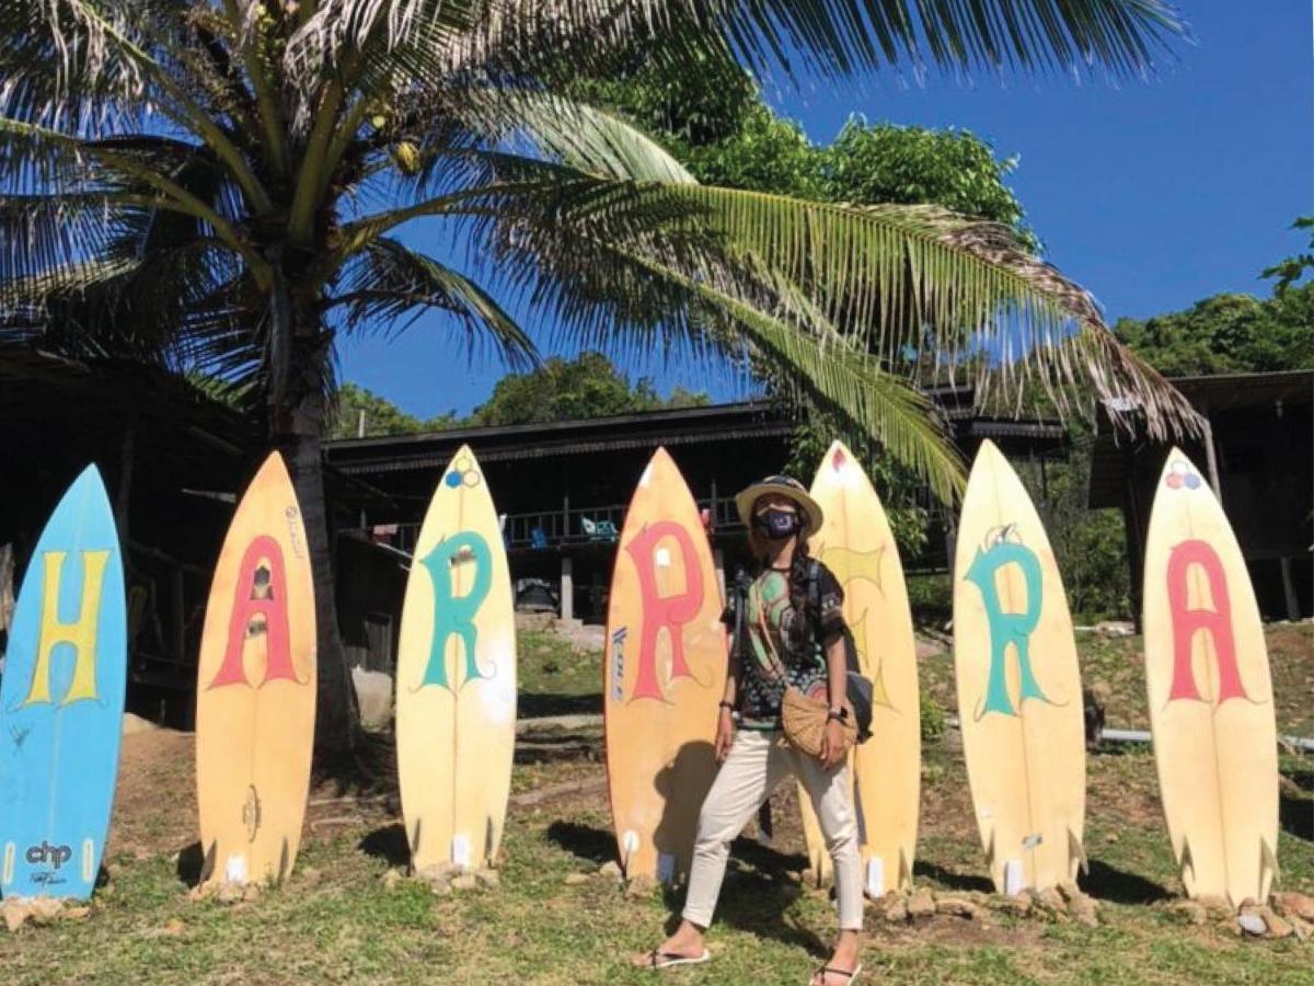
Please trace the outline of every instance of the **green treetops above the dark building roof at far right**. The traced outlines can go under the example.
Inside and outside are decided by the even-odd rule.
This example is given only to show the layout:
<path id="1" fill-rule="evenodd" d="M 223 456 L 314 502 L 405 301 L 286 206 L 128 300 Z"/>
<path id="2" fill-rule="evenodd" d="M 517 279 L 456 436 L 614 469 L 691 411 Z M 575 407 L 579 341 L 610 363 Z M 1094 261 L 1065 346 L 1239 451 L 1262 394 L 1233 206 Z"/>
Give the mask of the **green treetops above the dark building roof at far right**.
<path id="1" fill-rule="evenodd" d="M 1271 298 L 1214 294 L 1185 312 L 1120 318 L 1117 335 L 1160 373 L 1257 373 L 1314 368 L 1314 283 Z"/>

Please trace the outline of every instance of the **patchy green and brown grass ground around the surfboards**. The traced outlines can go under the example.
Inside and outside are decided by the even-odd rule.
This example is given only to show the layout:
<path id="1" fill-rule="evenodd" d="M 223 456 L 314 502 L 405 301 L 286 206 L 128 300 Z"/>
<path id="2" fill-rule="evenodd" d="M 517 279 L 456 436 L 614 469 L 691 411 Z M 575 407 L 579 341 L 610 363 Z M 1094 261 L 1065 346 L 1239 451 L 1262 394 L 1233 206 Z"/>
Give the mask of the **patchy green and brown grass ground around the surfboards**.
<path id="1" fill-rule="evenodd" d="M 597 690 L 597 655 L 574 656 L 549 639 L 523 644 L 528 694 L 586 695 L 590 680 Z M 1083 647 L 1088 667 L 1100 668 L 1121 667 L 1134 649 L 1133 642 L 1101 642 L 1097 655 Z M 1286 673 L 1279 672 L 1280 664 L 1275 660 L 1275 677 Z M 1298 678 L 1302 672 L 1292 673 Z M 1135 682 L 1120 685 L 1117 694 L 1123 692 L 1134 694 Z M 1134 710 L 1126 707 L 1120 724 L 1135 724 Z M 1282 715 L 1284 731 L 1300 723 L 1292 711 Z M 191 901 L 179 877 L 177 852 L 194 839 L 188 749 L 185 738 L 171 734 L 127 738 L 125 756 L 133 770 L 125 770 L 121 782 L 109 881 L 88 919 L 16 935 L 0 931 L 7 985 L 657 982 L 652 973 L 629 969 L 625 957 L 656 944 L 678 901 L 660 891 L 631 898 L 600 876 L 566 883 L 570 874 L 595 873 L 611 857 L 604 795 L 514 809 L 501 886 L 435 897 L 419 882 L 384 881 L 389 869 L 403 864 L 396 803 L 335 801 L 340 793 L 321 789 L 290 881 L 258 901 L 227 906 Z M 524 764 L 516 768 L 514 787 L 543 787 L 600 770 L 587 761 Z M 1314 759 L 1285 756 L 1282 772 L 1284 887 L 1314 893 Z M 983 889 L 957 734 L 926 745 L 922 777 L 918 885 Z M 669 978 L 753 986 L 807 981 L 832 933 L 833 911 L 824 895 L 799 883 L 805 861 L 792 798 L 792 785 L 783 785 L 770 845 L 741 840 L 736 847 L 711 935 L 714 962 Z M 869 981 L 1309 982 L 1314 945 L 1242 940 L 1219 926 L 1188 926 L 1163 906 L 1179 898 L 1181 887 L 1148 749 L 1089 759 L 1087 851 L 1091 874 L 1083 882 L 1101 901 L 1101 927 L 996 914 L 891 927 L 869 912 Z"/>

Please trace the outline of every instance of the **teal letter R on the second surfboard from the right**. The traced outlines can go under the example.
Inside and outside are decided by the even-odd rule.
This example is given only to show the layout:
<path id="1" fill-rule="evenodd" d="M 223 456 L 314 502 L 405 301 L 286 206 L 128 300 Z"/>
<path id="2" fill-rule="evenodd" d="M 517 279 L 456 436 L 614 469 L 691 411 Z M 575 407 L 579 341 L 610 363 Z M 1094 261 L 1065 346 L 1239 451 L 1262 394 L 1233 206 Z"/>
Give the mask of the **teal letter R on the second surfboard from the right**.
<path id="1" fill-rule="evenodd" d="M 995 573 L 1004 565 L 1017 565 L 1026 582 L 1026 609 L 1022 613 L 1005 613 L 1000 605 L 999 588 L 995 582 Z M 1017 715 L 1013 702 L 1008 697 L 1008 681 L 1004 674 L 1004 661 L 1008 656 L 1008 646 L 1017 651 L 1017 665 L 1021 677 L 1021 697 L 1018 705 L 1028 698 L 1038 698 L 1042 702 L 1045 693 L 1035 682 L 1031 672 L 1030 640 L 1035 624 L 1041 622 L 1041 607 L 1043 605 L 1041 563 L 1035 552 L 1025 544 L 1017 542 L 1000 540 L 987 551 L 978 551 L 967 569 L 967 581 L 982 592 L 982 602 L 986 606 L 986 621 L 989 627 L 989 677 L 986 688 L 986 706 L 982 715 L 987 713 L 1003 713 L 1004 715 Z"/>

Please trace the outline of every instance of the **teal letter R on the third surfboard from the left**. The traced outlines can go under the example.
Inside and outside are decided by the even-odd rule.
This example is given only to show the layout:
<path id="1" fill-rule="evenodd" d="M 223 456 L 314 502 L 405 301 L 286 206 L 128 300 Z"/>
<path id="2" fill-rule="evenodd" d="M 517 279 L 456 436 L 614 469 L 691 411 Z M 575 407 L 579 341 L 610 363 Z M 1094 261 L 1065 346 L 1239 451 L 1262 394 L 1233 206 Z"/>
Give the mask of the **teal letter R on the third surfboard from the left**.
<path id="1" fill-rule="evenodd" d="M 484 538 L 473 531 L 463 531 L 440 540 L 420 564 L 434 585 L 434 638 L 420 686 L 438 685 L 452 692 L 455 689 L 447 678 L 447 642 L 452 636 L 459 638 L 465 647 L 465 677 L 461 684 L 482 677 L 474 656 L 474 646 L 478 643 L 474 615 L 493 585 L 491 553 Z M 452 573 L 469 565 L 474 568 L 474 584 L 464 596 L 456 596 Z"/>

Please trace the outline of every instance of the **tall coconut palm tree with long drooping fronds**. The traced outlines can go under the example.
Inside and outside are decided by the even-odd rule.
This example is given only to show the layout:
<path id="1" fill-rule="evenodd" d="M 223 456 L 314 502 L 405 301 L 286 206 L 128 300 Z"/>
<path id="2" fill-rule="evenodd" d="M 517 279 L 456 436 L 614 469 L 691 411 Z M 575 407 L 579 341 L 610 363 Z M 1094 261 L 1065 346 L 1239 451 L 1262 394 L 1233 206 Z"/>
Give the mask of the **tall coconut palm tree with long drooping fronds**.
<path id="1" fill-rule="evenodd" d="M 912 360 L 1189 414 L 1016 235 L 937 209 L 698 185 L 560 93 L 640 45 L 696 70 L 1148 71 L 1162 0 L 0 0 L 0 331 L 218 377 L 283 450 L 321 586 L 321 748 L 351 735 L 319 433 L 339 333 L 439 309 L 767 367 L 949 496 Z M 790 64 L 790 63 L 794 64 Z M 456 266 L 396 233 L 440 217 Z M 988 389 L 988 388 L 987 388 Z"/>

